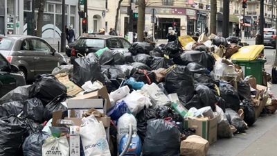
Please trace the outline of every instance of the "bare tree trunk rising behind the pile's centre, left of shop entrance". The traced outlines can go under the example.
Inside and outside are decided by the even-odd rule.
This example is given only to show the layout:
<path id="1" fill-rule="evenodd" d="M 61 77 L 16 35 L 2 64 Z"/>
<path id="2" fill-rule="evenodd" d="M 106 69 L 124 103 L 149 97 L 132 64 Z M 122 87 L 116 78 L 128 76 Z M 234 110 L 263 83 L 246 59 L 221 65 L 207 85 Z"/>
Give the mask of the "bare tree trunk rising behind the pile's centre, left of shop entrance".
<path id="1" fill-rule="evenodd" d="M 139 17 L 138 17 L 138 42 L 143 42 L 143 31 L 145 28 L 145 8 L 147 1 L 139 0 Z"/>

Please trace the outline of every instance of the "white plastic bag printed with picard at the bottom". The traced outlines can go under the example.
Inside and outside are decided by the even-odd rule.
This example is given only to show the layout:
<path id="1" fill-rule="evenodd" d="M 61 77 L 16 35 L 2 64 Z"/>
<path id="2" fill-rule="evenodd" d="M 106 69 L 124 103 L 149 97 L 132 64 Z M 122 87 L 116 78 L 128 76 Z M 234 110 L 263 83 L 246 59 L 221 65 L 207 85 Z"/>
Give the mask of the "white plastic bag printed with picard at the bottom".
<path id="1" fill-rule="evenodd" d="M 110 156 L 105 128 L 91 115 L 82 119 L 80 137 L 85 156 Z"/>

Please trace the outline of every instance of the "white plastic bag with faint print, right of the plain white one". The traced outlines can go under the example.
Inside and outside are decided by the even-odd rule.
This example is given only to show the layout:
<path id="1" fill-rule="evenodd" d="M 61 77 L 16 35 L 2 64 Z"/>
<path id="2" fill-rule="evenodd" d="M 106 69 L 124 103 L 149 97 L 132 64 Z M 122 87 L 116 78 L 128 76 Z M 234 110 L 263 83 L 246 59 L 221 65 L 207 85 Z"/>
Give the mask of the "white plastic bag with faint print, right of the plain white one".
<path id="1" fill-rule="evenodd" d="M 161 91 L 161 89 L 156 85 L 156 83 L 152 83 L 151 85 L 144 85 L 143 90 L 148 92 L 150 99 L 156 105 L 170 105 L 170 99 L 166 94 Z"/>

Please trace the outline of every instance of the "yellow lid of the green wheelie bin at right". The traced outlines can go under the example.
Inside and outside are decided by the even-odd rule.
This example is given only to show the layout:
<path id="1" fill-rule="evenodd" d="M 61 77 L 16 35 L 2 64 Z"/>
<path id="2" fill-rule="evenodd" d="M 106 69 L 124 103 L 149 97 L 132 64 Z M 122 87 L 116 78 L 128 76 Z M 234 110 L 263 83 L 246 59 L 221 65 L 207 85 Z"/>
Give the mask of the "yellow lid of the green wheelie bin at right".
<path id="1" fill-rule="evenodd" d="M 264 45 L 242 46 L 238 53 L 231 56 L 231 60 L 256 60 L 263 49 Z"/>

